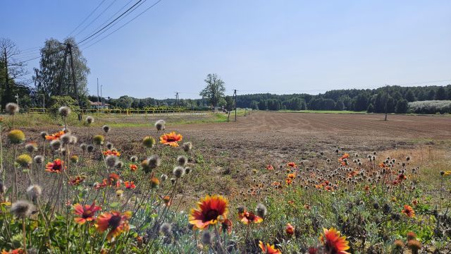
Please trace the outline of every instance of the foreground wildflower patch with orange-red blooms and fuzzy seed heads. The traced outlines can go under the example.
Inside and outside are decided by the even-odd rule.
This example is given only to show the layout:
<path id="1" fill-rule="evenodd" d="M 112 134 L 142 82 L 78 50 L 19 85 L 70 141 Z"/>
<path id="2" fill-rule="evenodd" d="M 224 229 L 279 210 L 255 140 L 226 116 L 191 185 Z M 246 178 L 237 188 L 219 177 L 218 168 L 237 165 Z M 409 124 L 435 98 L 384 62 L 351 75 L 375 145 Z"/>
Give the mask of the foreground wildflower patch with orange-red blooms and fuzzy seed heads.
<path id="1" fill-rule="evenodd" d="M 69 107 L 52 120 L 61 128 L 34 126 L 39 135 L 20 126 L 17 104 L 6 109 L 2 253 L 451 251 L 451 171 L 436 172 L 428 193 L 414 155 L 337 148 L 283 163 L 260 158 L 239 172 L 247 186 L 221 194 L 197 143 L 164 120 L 114 144 L 114 127 L 95 116 L 73 131 Z"/>

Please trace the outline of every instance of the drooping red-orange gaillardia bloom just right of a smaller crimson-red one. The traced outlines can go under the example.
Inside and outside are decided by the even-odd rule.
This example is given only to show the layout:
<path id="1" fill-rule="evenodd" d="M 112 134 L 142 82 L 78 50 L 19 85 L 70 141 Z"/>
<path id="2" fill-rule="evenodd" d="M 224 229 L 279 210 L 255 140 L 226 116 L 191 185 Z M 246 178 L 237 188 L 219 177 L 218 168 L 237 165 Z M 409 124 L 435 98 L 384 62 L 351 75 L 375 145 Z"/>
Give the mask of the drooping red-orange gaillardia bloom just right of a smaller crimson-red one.
<path id="1" fill-rule="evenodd" d="M 96 228 L 99 232 L 104 232 L 110 229 L 106 238 L 111 240 L 111 238 L 120 235 L 123 231 L 128 231 L 130 226 L 128 225 L 128 219 L 132 217 L 132 212 L 104 212 L 97 217 Z"/>

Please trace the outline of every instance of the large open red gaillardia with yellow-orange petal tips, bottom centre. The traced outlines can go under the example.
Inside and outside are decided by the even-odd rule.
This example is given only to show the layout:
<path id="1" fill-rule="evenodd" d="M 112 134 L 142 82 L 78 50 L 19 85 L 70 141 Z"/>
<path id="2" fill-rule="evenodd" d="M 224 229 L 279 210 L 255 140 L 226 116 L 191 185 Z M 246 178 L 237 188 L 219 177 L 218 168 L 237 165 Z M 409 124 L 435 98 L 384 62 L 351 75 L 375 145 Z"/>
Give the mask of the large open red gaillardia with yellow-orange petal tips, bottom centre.
<path id="1" fill-rule="evenodd" d="M 197 208 L 190 213 L 190 224 L 197 229 L 206 229 L 209 225 L 216 224 L 218 218 L 226 219 L 228 214 L 228 201 L 221 195 L 206 195 L 197 202 Z"/>

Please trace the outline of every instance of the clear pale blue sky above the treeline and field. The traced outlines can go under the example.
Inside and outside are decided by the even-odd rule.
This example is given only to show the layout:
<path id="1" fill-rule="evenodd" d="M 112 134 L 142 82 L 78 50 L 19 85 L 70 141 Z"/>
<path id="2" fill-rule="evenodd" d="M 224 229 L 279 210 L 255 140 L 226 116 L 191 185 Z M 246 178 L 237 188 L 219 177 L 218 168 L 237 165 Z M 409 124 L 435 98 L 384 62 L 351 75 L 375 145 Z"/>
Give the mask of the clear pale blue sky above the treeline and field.
<path id="1" fill-rule="evenodd" d="M 0 37 L 20 49 L 63 40 L 101 1 L 1 0 Z M 104 0 L 75 39 L 129 1 L 138 0 Z M 104 35 L 155 2 L 145 1 Z M 99 78 L 104 96 L 165 98 L 178 91 L 196 98 L 207 73 L 218 73 L 229 95 L 314 94 L 451 79 L 450 13 L 449 0 L 162 0 L 101 42 L 80 47 L 91 94 Z M 30 61 L 28 68 L 38 65 Z"/>

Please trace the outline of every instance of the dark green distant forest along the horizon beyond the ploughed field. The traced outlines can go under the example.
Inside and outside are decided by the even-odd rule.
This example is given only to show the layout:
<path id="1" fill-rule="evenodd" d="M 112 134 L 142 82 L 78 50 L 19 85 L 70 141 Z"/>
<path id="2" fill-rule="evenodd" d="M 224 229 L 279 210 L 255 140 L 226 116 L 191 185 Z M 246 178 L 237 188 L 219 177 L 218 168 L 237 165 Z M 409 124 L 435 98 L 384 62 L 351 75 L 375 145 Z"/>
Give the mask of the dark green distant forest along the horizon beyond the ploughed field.
<path id="1" fill-rule="evenodd" d="M 92 101 L 97 97 L 89 96 Z M 348 110 L 366 111 L 369 113 L 385 112 L 385 101 L 388 113 L 404 114 L 407 112 L 435 114 L 451 113 L 451 85 L 400 87 L 388 86 L 377 89 L 330 90 L 319 95 L 292 94 L 273 95 L 252 94 L 237 95 L 237 107 L 259 110 Z M 225 97 L 220 106 L 226 106 L 230 97 Z M 417 101 L 444 101 L 440 103 L 423 103 Z M 145 109 L 153 107 L 185 107 L 187 109 L 209 109 L 206 99 L 137 99 L 122 96 L 118 99 L 106 99 L 111 107 Z M 432 106 L 431 106 L 432 105 Z M 435 107 L 434 105 L 440 105 Z"/>

